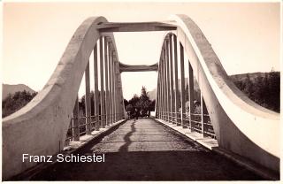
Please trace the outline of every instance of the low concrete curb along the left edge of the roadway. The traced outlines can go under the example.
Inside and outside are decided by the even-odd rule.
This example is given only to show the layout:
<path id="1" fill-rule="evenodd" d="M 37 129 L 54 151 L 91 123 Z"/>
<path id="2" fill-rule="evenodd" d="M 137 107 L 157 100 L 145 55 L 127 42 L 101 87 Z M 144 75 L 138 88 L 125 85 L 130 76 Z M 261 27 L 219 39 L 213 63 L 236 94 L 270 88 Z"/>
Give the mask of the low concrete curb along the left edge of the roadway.
<path id="1" fill-rule="evenodd" d="M 105 134 L 108 134 L 109 132 L 111 132 L 114 128 L 120 126 L 121 124 L 125 123 L 127 119 L 122 119 L 119 120 L 116 123 L 113 123 L 111 126 L 106 126 L 105 128 L 100 128 L 99 131 L 93 131 L 91 135 L 88 135 L 88 139 L 85 140 L 81 140 L 80 145 L 78 145 L 77 147 L 73 147 L 73 149 L 68 149 L 67 147 L 65 147 L 65 149 L 63 149 L 61 152 L 58 152 L 57 154 L 63 154 L 64 156 L 67 155 L 71 155 L 72 153 L 78 152 L 81 149 L 84 149 L 88 146 L 89 143 L 91 142 L 95 142 L 97 139 L 105 136 Z M 85 136 L 85 135 L 83 135 Z M 80 137 L 83 137 L 80 136 Z M 42 170 L 50 167 L 51 165 L 55 165 L 57 164 L 57 160 L 53 159 L 52 163 L 40 163 L 38 165 L 34 165 L 34 167 L 27 169 L 26 171 L 19 173 L 15 176 L 12 176 L 9 180 L 7 181 L 13 181 L 13 180 L 30 180 L 32 177 L 34 177 L 34 175 L 36 175 L 37 173 L 42 172 Z"/>

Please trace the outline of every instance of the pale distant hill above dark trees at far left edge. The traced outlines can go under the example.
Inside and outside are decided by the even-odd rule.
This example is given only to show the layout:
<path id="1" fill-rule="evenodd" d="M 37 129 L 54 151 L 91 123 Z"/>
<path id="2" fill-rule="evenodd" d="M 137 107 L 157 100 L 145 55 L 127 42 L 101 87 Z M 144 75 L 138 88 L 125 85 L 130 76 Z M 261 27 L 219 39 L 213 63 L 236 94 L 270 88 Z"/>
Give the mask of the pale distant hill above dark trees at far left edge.
<path id="1" fill-rule="evenodd" d="M 24 91 L 26 90 L 29 93 L 34 93 L 35 91 L 32 88 L 29 88 L 25 84 L 16 84 L 16 85 L 10 85 L 10 84 L 2 84 L 2 101 L 9 96 L 9 94 L 14 94 L 17 91 Z"/>

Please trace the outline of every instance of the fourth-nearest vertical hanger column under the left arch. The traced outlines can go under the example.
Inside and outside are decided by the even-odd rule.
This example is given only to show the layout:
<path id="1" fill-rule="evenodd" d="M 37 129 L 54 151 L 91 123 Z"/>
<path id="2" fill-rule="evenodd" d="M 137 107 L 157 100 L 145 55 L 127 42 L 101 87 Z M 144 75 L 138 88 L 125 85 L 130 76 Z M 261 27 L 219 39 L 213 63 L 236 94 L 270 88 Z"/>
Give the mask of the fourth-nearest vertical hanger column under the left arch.
<path id="1" fill-rule="evenodd" d="M 101 117 L 101 126 L 105 127 L 105 96 L 104 96 L 104 73 L 103 73 L 103 37 L 99 40 L 99 49 L 100 49 L 100 117 Z"/>

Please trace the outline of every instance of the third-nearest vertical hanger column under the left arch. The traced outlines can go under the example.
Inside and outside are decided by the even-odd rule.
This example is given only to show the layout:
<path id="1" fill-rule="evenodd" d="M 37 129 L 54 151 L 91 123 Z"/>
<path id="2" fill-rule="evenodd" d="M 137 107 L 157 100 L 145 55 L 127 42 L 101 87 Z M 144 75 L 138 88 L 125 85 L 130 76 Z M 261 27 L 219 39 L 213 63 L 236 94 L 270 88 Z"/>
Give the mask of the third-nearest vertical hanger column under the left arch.
<path id="1" fill-rule="evenodd" d="M 96 131 L 99 130 L 100 128 L 100 123 L 99 123 L 99 91 L 98 91 L 98 62 L 97 62 L 97 45 L 94 47 L 94 86 L 95 86 L 95 91 L 94 91 L 94 104 L 95 104 L 95 129 Z"/>

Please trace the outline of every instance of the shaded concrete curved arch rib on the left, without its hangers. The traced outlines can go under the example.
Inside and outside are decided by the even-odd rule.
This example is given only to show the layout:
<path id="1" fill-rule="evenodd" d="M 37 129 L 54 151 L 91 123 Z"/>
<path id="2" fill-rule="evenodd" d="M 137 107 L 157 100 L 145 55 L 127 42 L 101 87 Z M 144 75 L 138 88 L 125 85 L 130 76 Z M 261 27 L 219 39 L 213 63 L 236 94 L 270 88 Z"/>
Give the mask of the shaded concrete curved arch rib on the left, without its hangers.
<path id="1" fill-rule="evenodd" d="M 107 22 L 92 17 L 82 22 L 68 43 L 50 80 L 27 105 L 3 119 L 3 177 L 8 179 L 35 165 L 22 162 L 22 154 L 55 155 L 63 149 L 73 106 L 88 58 L 102 36 L 97 27 Z M 111 49 L 119 61 L 112 34 Z"/>

